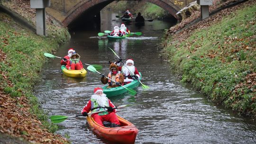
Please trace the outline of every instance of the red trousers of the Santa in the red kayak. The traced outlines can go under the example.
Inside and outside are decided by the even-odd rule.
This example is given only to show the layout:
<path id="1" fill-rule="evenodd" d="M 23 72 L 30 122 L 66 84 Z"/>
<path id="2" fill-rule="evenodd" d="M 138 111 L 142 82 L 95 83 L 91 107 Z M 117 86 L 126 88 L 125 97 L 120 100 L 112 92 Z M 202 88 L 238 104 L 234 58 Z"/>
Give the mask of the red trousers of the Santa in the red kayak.
<path id="1" fill-rule="evenodd" d="M 103 126 L 103 121 L 109 121 L 111 123 L 115 123 L 116 125 L 120 125 L 117 115 L 114 112 L 111 112 L 108 115 L 99 116 L 98 114 L 92 116 L 95 122 L 99 125 Z"/>

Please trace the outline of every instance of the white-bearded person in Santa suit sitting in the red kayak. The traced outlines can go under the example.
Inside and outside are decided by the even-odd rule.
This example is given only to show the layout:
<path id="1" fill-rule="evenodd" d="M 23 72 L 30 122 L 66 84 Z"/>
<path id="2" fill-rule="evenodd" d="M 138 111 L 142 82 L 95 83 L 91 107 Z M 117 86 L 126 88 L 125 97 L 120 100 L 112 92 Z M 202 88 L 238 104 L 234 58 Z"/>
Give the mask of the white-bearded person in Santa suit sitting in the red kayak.
<path id="1" fill-rule="evenodd" d="M 107 110 L 108 109 L 108 110 Z M 82 108 L 82 115 L 84 117 L 88 116 L 88 112 L 96 112 L 101 110 L 107 110 L 100 113 L 92 114 L 91 117 L 99 125 L 103 126 L 103 121 L 111 122 L 110 127 L 120 126 L 120 122 L 116 115 L 116 107 L 113 103 L 106 97 L 106 94 L 103 93 L 103 90 L 99 87 L 94 89 L 94 94 L 91 96 L 91 99 L 87 104 Z"/>

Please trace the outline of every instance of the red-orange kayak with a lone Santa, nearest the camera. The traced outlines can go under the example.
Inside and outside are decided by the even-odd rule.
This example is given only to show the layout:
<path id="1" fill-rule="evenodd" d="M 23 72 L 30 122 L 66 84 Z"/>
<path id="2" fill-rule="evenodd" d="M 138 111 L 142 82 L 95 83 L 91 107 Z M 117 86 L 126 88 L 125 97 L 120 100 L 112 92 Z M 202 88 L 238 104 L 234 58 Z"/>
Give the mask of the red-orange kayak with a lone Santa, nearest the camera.
<path id="1" fill-rule="evenodd" d="M 91 127 L 91 130 L 111 142 L 121 144 L 134 144 L 138 133 L 137 127 L 122 117 L 119 117 L 118 115 L 117 117 L 121 123 L 120 127 L 110 128 L 101 126 L 96 123 L 91 116 L 87 117 L 87 122 Z"/>

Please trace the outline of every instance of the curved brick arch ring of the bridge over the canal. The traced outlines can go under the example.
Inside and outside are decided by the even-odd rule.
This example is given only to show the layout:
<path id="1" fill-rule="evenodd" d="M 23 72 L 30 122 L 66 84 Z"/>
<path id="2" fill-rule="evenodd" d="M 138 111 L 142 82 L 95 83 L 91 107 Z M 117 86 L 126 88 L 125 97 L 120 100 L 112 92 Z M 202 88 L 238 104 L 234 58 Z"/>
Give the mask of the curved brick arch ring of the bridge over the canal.
<path id="1" fill-rule="evenodd" d="M 69 24 L 71 24 L 73 22 L 73 20 L 79 18 L 79 16 L 81 16 L 82 13 L 84 13 L 84 11 L 91 9 L 97 5 L 98 5 L 97 8 L 100 8 L 99 9 L 99 11 L 100 11 L 101 9 L 103 9 L 105 6 L 107 6 L 108 4 L 110 4 L 113 1 L 115 1 L 115 0 L 82 0 L 67 12 L 66 17 L 62 21 L 62 24 L 65 27 L 67 27 L 67 26 L 69 26 Z M 177 7 L 176 5 L 174 5 L 174 3 L 171 2 L 170 0 L 145 0 L 145 1 L 151 2 L 157 6 L 165 9 L 172 16 L 174 16 L 174 18 L 176 18 L 177 20 L 180 20 L 175 15 L 180 10 L 180 8 Z"/>

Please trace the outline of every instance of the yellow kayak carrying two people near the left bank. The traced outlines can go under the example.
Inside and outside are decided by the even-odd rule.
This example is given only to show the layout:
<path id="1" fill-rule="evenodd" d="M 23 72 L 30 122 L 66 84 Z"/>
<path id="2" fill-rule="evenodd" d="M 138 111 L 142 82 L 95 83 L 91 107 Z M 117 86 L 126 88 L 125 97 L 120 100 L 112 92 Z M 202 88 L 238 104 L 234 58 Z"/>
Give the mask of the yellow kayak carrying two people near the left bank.
<path id="1" fill-rule="evenodd" d="M 68 70 L 66 66 L 62 65 L 61 70 L 66 76 L 72 78 L 84 78 L 87 74 L 84 68 L 82 68 L 82 70 Z"/>

